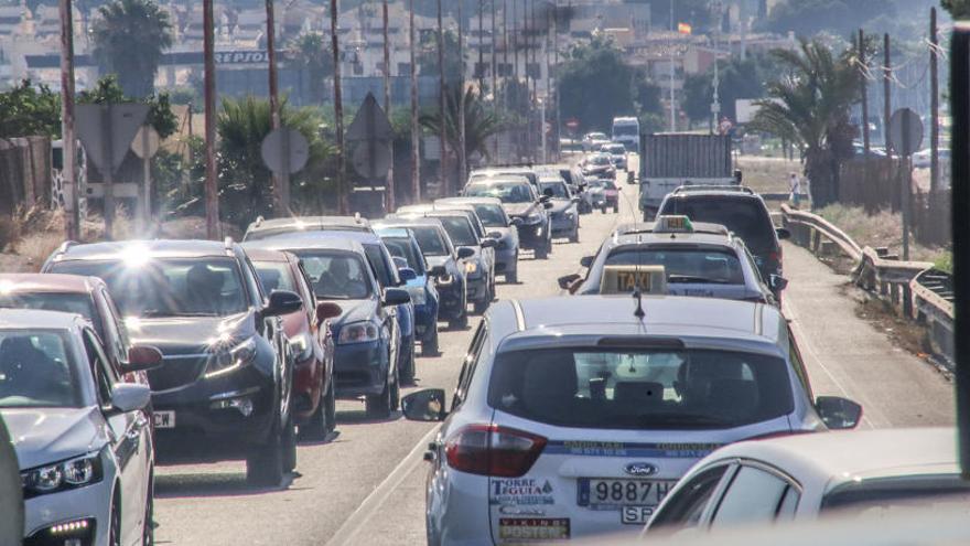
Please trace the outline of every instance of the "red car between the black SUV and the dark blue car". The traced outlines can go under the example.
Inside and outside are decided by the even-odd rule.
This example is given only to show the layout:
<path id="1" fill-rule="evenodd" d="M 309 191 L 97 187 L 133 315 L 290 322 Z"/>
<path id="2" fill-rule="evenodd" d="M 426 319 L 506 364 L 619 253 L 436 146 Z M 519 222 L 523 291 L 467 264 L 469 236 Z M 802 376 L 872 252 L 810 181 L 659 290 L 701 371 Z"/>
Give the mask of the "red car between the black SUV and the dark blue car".
<path id="1" fill-rule="evenodd" d="M 283 330 L 294 360 L 293 415 L 305 438 L 324 440 L 336 426 L 333 358 L 328 320 L 343 310 L 316 302 L 300 259 L 289 253 L 247 248 L 263 291 L 290 290 L 303 298 L 303 309 L 284 314 Z"/>

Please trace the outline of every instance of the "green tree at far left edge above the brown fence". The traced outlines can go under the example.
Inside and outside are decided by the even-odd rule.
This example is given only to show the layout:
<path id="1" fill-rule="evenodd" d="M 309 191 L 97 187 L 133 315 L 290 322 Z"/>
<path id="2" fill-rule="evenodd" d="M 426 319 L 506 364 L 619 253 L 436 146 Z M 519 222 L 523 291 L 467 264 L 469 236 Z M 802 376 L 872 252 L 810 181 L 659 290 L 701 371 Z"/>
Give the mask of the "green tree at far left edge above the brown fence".
<path id="1" fill-rule="evenodd" d="M 22 81 L 0 93 L 0 138 L 61 136 L 61 97 L 46 85 Z"/>

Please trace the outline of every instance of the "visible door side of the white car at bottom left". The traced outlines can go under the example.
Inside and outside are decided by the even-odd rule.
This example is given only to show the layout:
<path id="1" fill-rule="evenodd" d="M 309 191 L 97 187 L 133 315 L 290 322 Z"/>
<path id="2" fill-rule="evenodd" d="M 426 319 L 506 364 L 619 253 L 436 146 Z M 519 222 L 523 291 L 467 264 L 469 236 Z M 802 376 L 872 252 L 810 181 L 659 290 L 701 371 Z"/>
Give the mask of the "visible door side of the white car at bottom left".
<path id="1" fill-rule="evenodd" d="M 134 529 L 141 528 L 144 501 L 148 494 L 150 432 L 149 420 L 143 410 L 120 414 L 111 409 L 111 390 L 120 382 L 104 345 L 94 331 L 83 332 L 84 349 L 91 366 L 98 395 L 98 404 L 109 428 L 109 441 L 118 463 L 121 496 L 121 533 L 130 543 Z M 130 536 L 129 536 L 130 535 Z"/>

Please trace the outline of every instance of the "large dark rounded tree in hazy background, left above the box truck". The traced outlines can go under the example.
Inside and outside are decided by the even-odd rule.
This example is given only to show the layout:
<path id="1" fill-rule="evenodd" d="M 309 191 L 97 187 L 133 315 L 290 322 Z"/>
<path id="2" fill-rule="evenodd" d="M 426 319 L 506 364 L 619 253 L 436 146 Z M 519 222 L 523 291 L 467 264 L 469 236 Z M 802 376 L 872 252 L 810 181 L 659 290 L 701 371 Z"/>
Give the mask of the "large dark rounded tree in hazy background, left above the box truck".
<path id="1" fill-rule="evenodd" d="M 582 130 L 606 130 L 613 118 L 634 113 L 634 69 L 613 42 L 593 36 L 574 45 L 560 68 L 559 107 Z"/>

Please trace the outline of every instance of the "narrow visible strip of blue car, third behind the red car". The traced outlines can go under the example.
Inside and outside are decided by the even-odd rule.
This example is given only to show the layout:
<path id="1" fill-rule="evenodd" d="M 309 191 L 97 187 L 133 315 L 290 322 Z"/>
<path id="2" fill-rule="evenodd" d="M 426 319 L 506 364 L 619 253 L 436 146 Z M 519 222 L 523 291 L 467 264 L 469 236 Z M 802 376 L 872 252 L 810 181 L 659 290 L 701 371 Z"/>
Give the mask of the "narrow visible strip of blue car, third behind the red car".
<path id="1" fill-rule="evenodd" d="M 378 227 L 375 232 L 384 240 L 384 245 L 394 256 L 395 261 L 400 261 L 398 275 L 405 281 L 405 288 L 411 295 L 411 303 L 414 307 L 414 329 L 417 339 L 421 341 L 421 354 L 433 356 L 438 354 L 438 290 L 434 288 L 434 277 L 418 239 L 408 228 Z"/>

